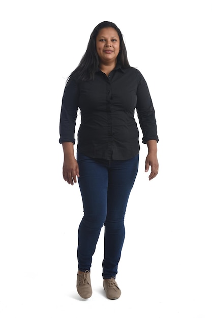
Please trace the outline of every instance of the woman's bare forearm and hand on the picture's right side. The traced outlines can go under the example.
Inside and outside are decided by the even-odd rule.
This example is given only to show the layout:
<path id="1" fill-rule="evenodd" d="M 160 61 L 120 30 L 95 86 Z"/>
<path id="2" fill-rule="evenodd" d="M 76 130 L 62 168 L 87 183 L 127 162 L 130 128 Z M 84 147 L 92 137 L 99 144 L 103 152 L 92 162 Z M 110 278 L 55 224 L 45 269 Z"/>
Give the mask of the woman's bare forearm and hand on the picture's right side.
<path id="1" fill-rule="evenodd" d="M 158 158 L 157 158 L 157 141 L 148 140 L 147 141 L 148 154 L 145 162 L 145 172 L 148 172 L 149 166 L 151 166 L 151 173 L 149 175 L 149 181 L 155 178 L 158 174 Z"/>

